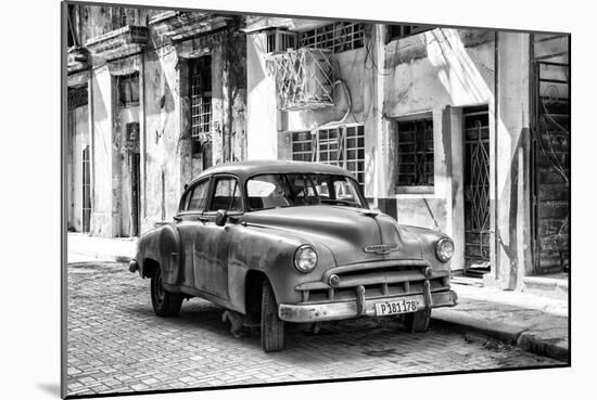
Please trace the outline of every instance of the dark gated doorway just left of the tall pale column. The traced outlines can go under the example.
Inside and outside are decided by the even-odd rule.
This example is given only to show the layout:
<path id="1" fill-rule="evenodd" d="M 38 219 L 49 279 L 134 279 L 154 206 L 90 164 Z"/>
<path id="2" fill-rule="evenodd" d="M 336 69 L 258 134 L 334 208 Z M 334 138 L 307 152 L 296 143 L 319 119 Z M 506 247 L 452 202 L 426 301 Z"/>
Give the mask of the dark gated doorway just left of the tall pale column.
<path id="1" fill-rule="evenodd" d="M 490 114 L 487 105 L 462 111 L 465 139 L 465 274 L 488 273 Z"/>

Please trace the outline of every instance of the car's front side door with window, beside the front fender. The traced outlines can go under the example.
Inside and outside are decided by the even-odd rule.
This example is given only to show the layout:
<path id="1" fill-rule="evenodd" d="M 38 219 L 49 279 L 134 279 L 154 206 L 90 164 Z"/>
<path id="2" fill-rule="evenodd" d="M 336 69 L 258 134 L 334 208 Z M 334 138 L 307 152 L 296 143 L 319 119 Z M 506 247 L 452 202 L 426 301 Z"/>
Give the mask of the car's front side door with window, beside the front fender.
<path id="1" fill-rule="evenodd" d="M 212 196 L 203 212 L 203 229 L 195 241 L 201 241 L 201 251 L 194 253 L 193 266 L 195 285 L 203 292 L 228 300 L 228 253 L 237 225 L 227 222 L 218 227 L 216 212 L 225 209 L 231 214 L 243 211 L 242 193 L 239 180 L 229 175 L 213 177 Z"/>

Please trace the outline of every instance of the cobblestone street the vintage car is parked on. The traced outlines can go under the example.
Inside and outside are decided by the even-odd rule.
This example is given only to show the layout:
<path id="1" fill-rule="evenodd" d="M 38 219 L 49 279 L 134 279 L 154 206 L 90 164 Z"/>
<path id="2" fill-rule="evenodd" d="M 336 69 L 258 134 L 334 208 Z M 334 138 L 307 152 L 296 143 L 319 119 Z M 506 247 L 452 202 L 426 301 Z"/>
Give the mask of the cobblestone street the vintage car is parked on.
<path id="1" fill-rule="evenodd" d="M 264 353 L 258 335 L 232 337 L 211 302 L 156 317 L 149 285 L 125 263 L 68 264 L 69 396 L 559 363 L 433 323 L 407 334 L 397 319 L 292 327 L 285 351 Z"/>

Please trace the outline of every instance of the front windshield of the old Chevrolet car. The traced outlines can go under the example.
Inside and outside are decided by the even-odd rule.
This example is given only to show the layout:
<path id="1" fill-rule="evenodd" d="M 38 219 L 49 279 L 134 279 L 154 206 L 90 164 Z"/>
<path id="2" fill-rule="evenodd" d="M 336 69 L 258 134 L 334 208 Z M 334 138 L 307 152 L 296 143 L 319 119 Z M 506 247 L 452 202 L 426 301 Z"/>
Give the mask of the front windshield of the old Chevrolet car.
<path id="1" fill-rule="evenodd" d="M 253 210 L 320 204 L 364 208 L 358 184 L 341 175 L 268 173 L 246 181 Z"/>

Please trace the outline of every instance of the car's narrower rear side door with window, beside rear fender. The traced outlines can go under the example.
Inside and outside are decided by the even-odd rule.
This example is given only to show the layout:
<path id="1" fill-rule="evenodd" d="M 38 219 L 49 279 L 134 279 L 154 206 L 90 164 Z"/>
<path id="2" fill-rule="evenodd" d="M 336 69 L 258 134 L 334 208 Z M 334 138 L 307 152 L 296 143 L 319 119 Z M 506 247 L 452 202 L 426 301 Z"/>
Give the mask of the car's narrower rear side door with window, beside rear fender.
<path id="1" fill-rule="evenodd" d="M 195 285 L 193 266 L 194 254 L 202 250 L 202 243 L 196 238 L 202 236 L 204 229 L 202 215 L 207 206 L 211 179 L 205 178 L 189 188 L 181 201 L 179 212 L 175 217 L 176 228 L 180 236 L 180 267 L 183 272 L 182 285 L 199 288 Z"/>

